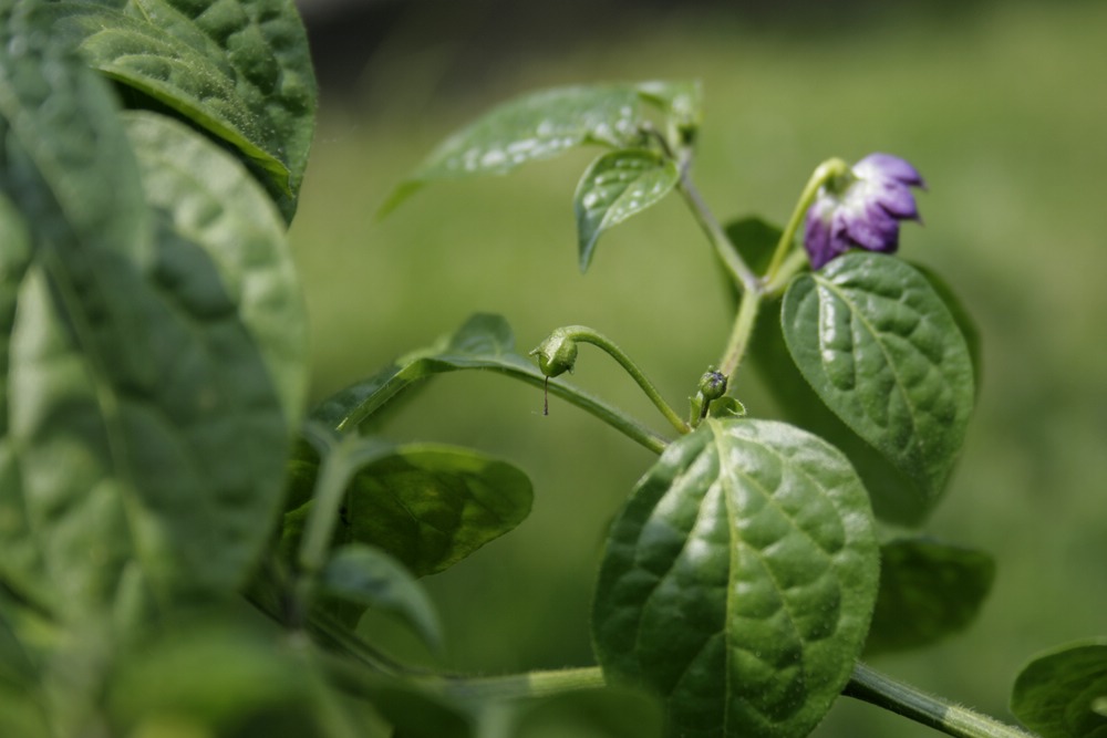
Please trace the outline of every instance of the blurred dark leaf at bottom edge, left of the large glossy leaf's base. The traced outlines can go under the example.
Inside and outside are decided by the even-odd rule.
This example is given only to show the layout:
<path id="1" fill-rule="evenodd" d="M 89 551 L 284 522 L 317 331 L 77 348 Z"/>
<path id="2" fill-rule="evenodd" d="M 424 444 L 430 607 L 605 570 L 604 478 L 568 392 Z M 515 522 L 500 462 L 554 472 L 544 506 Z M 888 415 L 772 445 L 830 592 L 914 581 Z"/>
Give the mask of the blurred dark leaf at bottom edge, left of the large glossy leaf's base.
<path id="1" fill-rule="evenodd" d="M 569 692 L 520 709 L 513 738 L 661 738 L 656 700 L 618 687 Z"/>

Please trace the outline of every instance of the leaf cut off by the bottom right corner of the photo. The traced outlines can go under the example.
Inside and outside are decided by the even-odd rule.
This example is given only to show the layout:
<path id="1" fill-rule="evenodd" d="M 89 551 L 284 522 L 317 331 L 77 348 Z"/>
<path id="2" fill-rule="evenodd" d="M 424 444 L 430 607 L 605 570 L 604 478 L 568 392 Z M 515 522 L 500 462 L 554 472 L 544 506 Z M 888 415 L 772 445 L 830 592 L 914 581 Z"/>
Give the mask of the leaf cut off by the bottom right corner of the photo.
<path id="1" fill-rule="evenodd" d="M 1015 679 L 1011 711 L 1042 738 L 1105 738 L 1107 640 L 1036 656 Z"/>

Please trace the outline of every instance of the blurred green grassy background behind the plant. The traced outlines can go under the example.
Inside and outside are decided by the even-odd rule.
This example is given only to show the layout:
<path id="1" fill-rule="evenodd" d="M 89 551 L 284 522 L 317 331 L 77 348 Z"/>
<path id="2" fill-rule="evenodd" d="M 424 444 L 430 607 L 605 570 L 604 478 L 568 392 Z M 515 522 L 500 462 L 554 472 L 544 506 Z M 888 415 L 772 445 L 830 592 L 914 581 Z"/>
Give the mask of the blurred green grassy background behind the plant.
<path id="1" fill-rule="evenodd" d="M 700 79 L 695 178 L 721 219 L 784 221 L 829 156 L 903 156 L 930 189 L 902 253 L 942 273 L 983 332 L 976 416 L 928 529 L 992 552 L 995 589 L 965 633 L 875 666 L 1010 719 L 1031 655 L 1107 634 L 1107 2 L 302 6 L 321 117 L 292 241 L 317 398 L 486 311 L 525 351 L 559 325 L 591 325 L 682 406 L 732 316 L 679 198 L 606 235 L 586 276 L 570 198 L 594 150 L 428 187 L 383 222 L 373 210 L 506 97 Z M 573 381 L 664 429 L 599 352 L 582 349 Z M 739 396 L 772 414 L 755 377 Z M 592 663 L 603 529 L 651 456 L 563 403 L 540 410 L 528 387 L 455 374 L 385 428 L 501 456 L 535 482 L 530 519 L 427 581 L 449 668 Z M 395 648 L 413 648 L 399 631 Z M 934 734 L 842 699 L 816 735 Z"/>

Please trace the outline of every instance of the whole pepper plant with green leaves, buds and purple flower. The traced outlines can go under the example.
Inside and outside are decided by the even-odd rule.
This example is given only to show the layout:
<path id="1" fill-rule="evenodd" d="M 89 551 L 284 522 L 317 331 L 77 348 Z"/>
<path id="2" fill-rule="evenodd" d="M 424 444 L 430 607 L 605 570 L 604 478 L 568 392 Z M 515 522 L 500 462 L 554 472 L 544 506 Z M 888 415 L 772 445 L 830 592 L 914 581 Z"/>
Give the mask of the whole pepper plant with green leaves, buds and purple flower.
<path id="1" fill-rule="evenodd" d="M 597 147 L 573 197 L 581 269 L 609 228 L 679 194 L 734 298 L 718 363 L 676 408 L 591 328 L 528 354 L 475 315 L 308 408 L 286 229 L 314 113 L 291 0 L 0 0 L 0 735 L 790 737 L 841 695 L 952 736 L 1031 735 L 861 661 L 964 627 L 994 570 L 922 532 L 979 339 L 945 283 L 896 256 L 923 185 L 910 164 L 828 159 L 783 228 L 723 225 L 692 178 L 696 84 L 510 101 L 385 209 Z M 596 349 L 664 433 L 565 381 Z M 374 435 L 402 395 L 466 370 L 658 456 L 598 561 L 596 666 L 439 674 L 358 627 L 383 611 L 441 647 L 421 578 L 530 509 L 506 461 Z M 728 392 L 742 372 L 779 417 Z M 1018 720 L 1107 735 L 1105 654 L 1032 661 Z"/>

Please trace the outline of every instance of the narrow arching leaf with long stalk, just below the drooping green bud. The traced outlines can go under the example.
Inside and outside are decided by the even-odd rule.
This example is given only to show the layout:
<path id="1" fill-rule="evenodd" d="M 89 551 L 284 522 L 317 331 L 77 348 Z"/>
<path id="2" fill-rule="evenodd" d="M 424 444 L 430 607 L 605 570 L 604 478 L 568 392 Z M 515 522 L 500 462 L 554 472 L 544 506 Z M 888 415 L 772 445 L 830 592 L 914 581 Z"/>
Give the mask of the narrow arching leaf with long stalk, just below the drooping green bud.
<path id="1" fill-rule="evenodd" d="M 324 399 L 311 416 L 338 430 L 351 430 L 416 383 L 461 370 L 492 370 L 536 387 L 548 387 L 550 394 L 569 399 L 646 448 L 660 450 L 664 447 L 665 441 L 660 436 L 621 410 L 560 380 L 547 383 L 535 363 L 515 351 L 515 335 L 507 322 L 499 315 L 480 313 L 469 318 L 455 333 Z"/>

